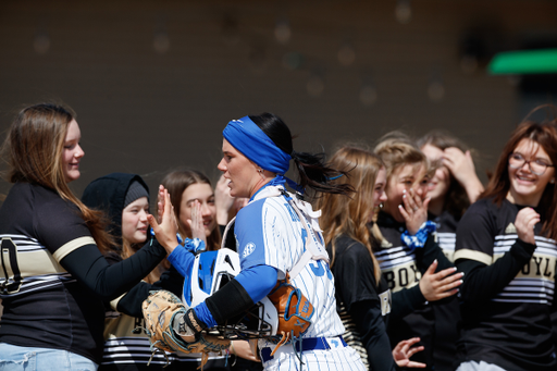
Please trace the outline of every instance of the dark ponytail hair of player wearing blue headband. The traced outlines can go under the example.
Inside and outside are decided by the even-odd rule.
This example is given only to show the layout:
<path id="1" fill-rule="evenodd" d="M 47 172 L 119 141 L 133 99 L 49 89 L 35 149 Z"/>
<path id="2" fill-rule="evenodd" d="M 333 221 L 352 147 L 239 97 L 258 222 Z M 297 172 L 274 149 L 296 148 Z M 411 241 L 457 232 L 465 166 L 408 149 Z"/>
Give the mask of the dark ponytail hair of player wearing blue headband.
<path id="1" fill-rule="evenodd" d="M 298 184 L 302 187 L 310 187 L 313 190 L 324 194 L 349 195 L 352 187 L 346 183 L 332 183 L 331 178 L 345 174 L 342 171 L 325 165 L 324 153 L 297 152 L 294 150 L 290 129 L 272 113 L 250 115 L 249 119 L 284 152 L 290 154 L 296 164 Z"/>

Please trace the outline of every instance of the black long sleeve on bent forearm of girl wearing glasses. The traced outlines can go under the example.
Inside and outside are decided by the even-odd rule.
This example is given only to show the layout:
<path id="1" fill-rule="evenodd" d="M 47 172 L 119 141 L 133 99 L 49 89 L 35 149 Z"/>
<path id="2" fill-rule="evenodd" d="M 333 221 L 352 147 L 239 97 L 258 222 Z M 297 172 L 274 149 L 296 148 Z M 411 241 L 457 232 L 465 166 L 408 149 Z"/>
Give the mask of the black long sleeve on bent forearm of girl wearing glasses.
<path id="1" fill-rule="evenodd" d="M 475 304 L 495 297 L 530 261 L 534 250 L 535 245 L 517 239 L 510 250 L 491 265 L 476 260 L 458 259 L 457 268 L 465 272 L 460 289 L 462 300 Z"/>

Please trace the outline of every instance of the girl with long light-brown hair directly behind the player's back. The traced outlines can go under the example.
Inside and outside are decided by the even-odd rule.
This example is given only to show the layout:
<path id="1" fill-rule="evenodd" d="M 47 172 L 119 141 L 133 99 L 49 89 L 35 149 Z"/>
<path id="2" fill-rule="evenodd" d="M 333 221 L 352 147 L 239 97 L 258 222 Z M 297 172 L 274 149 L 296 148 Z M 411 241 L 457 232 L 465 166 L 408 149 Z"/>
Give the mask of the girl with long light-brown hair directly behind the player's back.
<path id="1" fill-rule="evenodd" d="M 373 256 L 374 239 L 370 230 L 374 209 L 386 201 L 385 166 L 377 156 L 355 146 L 337 150 L 329 166 L 348 173 L 333 182 L 347 182 L 356 190 L 350 198 L 323 194 L 318 202 L 336 280 L 337 309 L 346 327 L 344 337 L 371 370 L 391 371 L 397 364 L 425 367 L 409 360 L 413 354 L 423 350 L 423 347 L 410 348 L 419 338 L 397 345 L 394 357 L 391 356 L 386 333 L 391 290 Z"/>

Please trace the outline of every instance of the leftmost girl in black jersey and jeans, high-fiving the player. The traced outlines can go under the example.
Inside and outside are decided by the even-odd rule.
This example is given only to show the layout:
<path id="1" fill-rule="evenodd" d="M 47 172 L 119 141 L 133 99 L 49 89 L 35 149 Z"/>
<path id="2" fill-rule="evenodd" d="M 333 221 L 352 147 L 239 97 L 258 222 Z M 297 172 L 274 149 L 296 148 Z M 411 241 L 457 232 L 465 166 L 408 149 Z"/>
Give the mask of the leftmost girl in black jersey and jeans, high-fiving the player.
<path id="1" fill-rule="evenodd" d="M 100 250 L 111 238 L 100 214 L 67 186 L 79 177 L 84 157 L 74 116 L 58 104 L 28 107 L 4 143 L 14 185 L 0 208 L 2 370 L 96 370 L 102 359 L 102 299 L 125 293 L 177 245 L 168 217 L 158 236 L 162 246 L 153 243 L 109 267 Z"/>

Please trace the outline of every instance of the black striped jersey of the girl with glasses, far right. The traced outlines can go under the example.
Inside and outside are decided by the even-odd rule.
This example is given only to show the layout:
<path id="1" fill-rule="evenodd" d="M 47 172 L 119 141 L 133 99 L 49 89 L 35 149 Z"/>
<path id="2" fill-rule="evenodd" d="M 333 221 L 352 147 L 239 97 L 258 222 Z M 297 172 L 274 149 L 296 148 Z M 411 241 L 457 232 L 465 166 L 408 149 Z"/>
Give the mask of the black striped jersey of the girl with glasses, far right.
<path id="1" fill-rule="evenodd" d="M 507 370 L 555 370 L 550 306 L 554 300 L 555 240 L 518 239 L 520 206 L 476 201 L 457 230 L 455 260 L 465 272 L 461 361 L 495 363 Z"/>

